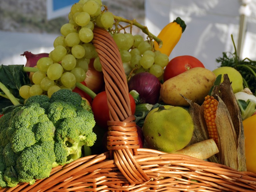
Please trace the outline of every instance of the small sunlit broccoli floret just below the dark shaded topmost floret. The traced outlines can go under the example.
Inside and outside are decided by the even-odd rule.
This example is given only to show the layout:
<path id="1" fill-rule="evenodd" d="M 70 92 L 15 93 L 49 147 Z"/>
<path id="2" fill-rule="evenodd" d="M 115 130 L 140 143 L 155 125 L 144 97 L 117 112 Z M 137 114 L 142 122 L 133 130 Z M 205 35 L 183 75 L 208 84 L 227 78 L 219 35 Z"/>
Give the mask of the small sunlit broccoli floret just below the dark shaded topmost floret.
<path id="1" fill-rule="evenodd" d="M 57 127 L 65 118 L 73 118 L 76 116 L 76 107 L 70 103 L 56 101 L 50 104 L 48 109 L 48 118 Z"/>

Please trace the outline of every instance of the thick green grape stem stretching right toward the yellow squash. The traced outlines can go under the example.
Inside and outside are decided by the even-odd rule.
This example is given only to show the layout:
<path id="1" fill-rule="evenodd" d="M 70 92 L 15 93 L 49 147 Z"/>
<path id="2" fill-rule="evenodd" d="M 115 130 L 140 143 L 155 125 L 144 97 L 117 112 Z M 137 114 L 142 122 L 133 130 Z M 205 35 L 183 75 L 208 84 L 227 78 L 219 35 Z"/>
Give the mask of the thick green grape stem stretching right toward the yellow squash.
<path id="1" fill-rule="evenodd" d="M 129 23 L 131 26 L 134 25 L 134 26 L 140 28 L 143 33 L 145 33 L 146 35 L 148 35 L 150 38 L 154 39 L 154 40 L 158 43 L 159 47 L 162 47 L 162 45 L 163 45 L 162 40 L 159 39 L 157 36 L 153 35 L 152 33 L 150 33 L 149 30 L 148 30 L 148 28 L 147 28 L 147 26 L 141 25 L 140 23 L 138 23 L 138 22 L 136 21 L 136 19 L 129 20 L 129 19 L 125 19 L 125 18 L 123 18 L 123 17 L 119 17 L 119 16 L 116 16 L 116 15 L 114 15 L 114 19 L 115 19 L 117 22 Z M 128 26 L 126 26 L 126 27 L 128 27 Z"/>

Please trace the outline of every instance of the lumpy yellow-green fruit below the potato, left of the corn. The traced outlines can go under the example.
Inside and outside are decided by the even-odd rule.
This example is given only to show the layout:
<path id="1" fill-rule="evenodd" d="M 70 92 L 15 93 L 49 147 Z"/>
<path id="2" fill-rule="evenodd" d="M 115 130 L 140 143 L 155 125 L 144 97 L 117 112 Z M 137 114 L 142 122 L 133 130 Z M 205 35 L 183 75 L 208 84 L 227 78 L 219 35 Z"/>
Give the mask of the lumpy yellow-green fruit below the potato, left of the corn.
<path id="1" fill-rule="evenodd" d="M 171 105 L 152 109 L 142 127 L 147 145 L 166 153 L 183 149 L 190 142 L 193 130 L 193 120 L 188 111 Z"/>

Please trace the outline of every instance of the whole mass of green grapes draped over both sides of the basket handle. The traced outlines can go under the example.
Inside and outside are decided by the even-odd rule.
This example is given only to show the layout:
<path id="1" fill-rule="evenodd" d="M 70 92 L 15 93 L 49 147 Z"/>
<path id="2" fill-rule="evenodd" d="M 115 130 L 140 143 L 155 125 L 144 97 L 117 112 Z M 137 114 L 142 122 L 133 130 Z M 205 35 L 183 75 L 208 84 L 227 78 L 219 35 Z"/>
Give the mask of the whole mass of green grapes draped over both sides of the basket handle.
<path id="1" fill-rule="evenodd" d="M 94 60 L 94 68 L 102 71 L 98 54 L 91 42 L 95 25 L 105 28 L 113 36 L 124 67 L 128 66 L 130 75 L 148 71 L 158 78 L 162 77 L 163 68 L 169 61 L 168 56 L 154 51 L 152 40 L 120 32 L 124 29 L 117 29 L 122 18 L 109 12 L 101 0 L 79 0 L 72 5 L 68 19 L 69 23 L 60 28 L 61 35 L 54 40 L 54 49 L 49 57 L 38 60 L 39 71 L 32 76 L 33 85 L 20 88 L 20 95 L 24 99 L 41 94 L 50 97 L 62 88 L 73 90 L 77 82 L 85 80 L 91 59 Z M 130 29 L 132 23 L 130 21 Z"/>

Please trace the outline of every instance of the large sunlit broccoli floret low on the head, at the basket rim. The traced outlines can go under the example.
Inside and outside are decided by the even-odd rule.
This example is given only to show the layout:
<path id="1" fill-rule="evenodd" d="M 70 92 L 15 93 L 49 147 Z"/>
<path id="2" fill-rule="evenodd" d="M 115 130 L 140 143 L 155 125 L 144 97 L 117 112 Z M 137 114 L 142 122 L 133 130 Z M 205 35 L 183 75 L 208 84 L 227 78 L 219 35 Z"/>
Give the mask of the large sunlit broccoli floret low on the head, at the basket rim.
<path id="1" fill-rule="evenodd" d="M 53 140 L 26 148 L 17 159 L 19 181 L 33 184 L 36 179 L 49 177 L 54 162 Z"/>

